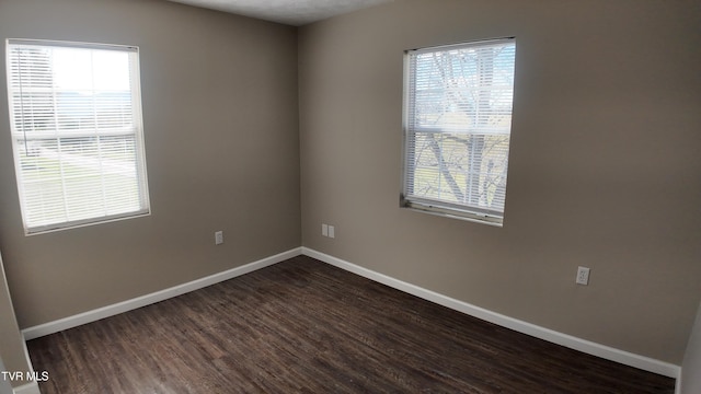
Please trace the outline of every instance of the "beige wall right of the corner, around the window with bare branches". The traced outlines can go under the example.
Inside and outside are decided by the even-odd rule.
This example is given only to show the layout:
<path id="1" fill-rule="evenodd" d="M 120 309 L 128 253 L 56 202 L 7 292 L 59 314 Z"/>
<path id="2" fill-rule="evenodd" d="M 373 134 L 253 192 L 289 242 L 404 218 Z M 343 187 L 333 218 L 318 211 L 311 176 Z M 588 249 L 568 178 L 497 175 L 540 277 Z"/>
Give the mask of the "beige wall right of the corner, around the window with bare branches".
<path id="1" fill-rule="evenodd" d="M 680 364 L 701 297 L 700 11 L 405 0 L 301 28 L 303 245 Z M 399 208 L 403 50 L 506 36 L 517 59 L 504 228 Z M 574 283 L 578 265 L 588 287 Z"/>

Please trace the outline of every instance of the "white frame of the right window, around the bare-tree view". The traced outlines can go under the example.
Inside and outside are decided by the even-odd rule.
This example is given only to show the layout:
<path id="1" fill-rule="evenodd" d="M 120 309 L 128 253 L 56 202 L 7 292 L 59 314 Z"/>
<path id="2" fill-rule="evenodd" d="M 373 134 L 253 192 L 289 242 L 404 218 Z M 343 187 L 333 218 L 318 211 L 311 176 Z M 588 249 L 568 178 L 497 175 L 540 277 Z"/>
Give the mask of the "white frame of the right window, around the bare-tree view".
<path id="1" fill-rule="evenodd" d="M 414 157 L 414 141 L 413 137 L 416 132 L 421 132 L 422 130 L 426 134 L 428 132 L 443 132 L 439 128 L 427 128 L 427 127 L 411 127 L 412 124 L 411 117 L 412 109 L 414 108 L 414 103 L 412 103 L 412 85 L 415 83 L 416 74 L 412 72 L 412 56 L 421 55 L 421 54 L 430 54 L 430 53 L 443 53 L 455 49 L 464 49 L 471 47 L 481 47 L 481 46 L 492 46 L 499 43 L 508 43 L 514 46 L 514 51 L 516 50 L 516 38 L 515 37 L 505 37 L 505 38 L 495 38 L 495 39 L 483 39 L 483 40 L 474 40 L 474 42 L 463 42 L 458 44 L 449 44 L 449 45 L 439 45 L 432 47 L 424 47 L 418 49 L 409 49 L 404 51 L 404 68 L 403 68 L 403 103 L 402 103 L 402 134 L 403 134 L 403 148 L 402 148 L 402 184 L 401 184 L 401 193 L 400 193 L 400 207 L 407 208 L 415 211 L 421 211 L 429 215 L 453 218 L 459 220 L 466 220 L 471 222 L 478 222 L 494 227 L 503 227 L 504 225 L 504 212 L 506 210 L 506 183 L 504 186 L 504 209 L 501 211 L 495 211 L 492 209 L 483 209 L 481 207 L 463 205 L 459 202 L 449 202 L 445 200 L 432 199 L 421 196 L 411 195 L 410 190 L 412 189 L 412 183 L 414 175 L 413 165 L 411 165 L 410 160 Z M 516 58 L 514 56 L 514 72 L 512 77 L 515 80 L 515 68 L 516 68 Z M 514 83 L 515 85 L 515 83 Z M 509 111 L 509 118 L 513 119 L 513 108 L 514 108 L 514 85 L 512 85 L 512 107 Z M 510 134 L 512 134 L 512 124 L 509 121 L 509 127 L 505 135 L 509 136 L 508 148 L 506 151 L 506 169 L 508 169 L 508 155 L 510 154 Z M 495 132 L 496 135 L 497 132 Z M 507 171 L 507 170 L 506 170 Z M 506 173 L 505 171 L 505 173 Z"/>

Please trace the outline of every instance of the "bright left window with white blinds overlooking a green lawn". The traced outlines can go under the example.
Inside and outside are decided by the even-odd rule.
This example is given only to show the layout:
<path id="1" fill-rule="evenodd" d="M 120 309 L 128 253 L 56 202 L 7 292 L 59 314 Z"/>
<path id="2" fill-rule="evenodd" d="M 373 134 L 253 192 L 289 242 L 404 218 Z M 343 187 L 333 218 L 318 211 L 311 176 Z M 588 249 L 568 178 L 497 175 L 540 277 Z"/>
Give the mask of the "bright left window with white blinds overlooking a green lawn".
<path id="1" fill-rule="evenodd" d="M 8 39 L 25 233 L 149 213 L 138 48 Z"/>

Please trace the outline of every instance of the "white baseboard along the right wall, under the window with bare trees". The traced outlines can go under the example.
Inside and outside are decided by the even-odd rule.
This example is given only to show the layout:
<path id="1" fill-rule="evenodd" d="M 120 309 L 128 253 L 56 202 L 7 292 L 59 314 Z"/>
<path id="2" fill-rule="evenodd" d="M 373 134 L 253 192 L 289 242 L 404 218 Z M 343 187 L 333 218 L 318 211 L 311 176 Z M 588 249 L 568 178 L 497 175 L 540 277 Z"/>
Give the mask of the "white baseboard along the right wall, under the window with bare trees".
<path id="1" fill-rule="evenodd" d="M 639 368 L 653 373 L 662 374 L 669 378 L 678 379 L 681 372 L 679 366 L 669 362 L 656 360 L 650 357 L 635 355 L 629 351 L 616 349 L 609 346 L 600 345 L 590 340 L 574 337 L 572 335 L 559 333 L 545 327 L 541 327 L 531 323 L 519 321 L 490 310 L 469 304 L 467 302 L 452 299 L 450 297 L 421 288 L 418 286 L 404 282 L 392 278 L 384 274 L 374 271 L 348 263 L 337 257 L 314 251 L 309 247 L 302 247 L 302 254 L 317 258 L 324 263 L 331 264 L 341 269 L 375 280 L 391 288 L 404 291 L 412 296 L 416 296 L 427 301 L 435 302 L 439 305 L 450 308 L 452 310 L 469 314 L 483 321 L 497 324 L 499 326 L 514 329 L 516 332 L 530 335 L 532 337 L 548 340 L 550 343 L 561 345 L 571 349 L 579 350 L 588 355 L 601 357 L 607 360 L 616 361 L 625 366 Z"/>

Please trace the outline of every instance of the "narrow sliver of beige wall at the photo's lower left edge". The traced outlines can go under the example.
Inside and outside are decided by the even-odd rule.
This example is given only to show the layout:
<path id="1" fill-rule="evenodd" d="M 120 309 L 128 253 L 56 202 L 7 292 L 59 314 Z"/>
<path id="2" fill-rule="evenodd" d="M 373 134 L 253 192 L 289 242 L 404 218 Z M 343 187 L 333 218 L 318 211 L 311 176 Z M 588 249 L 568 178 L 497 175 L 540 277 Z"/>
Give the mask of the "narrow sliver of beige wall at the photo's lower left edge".
<path id="1" fill-rule="evenodd" d="M 24 338 L 20 334 L 12 299 L 8 291 L 2 256 L 0 256 L 0 371 L 26 372 L 31 370 L 32 368 L 27 363 Z M 4 387 L 3 381 L 3 376 L 0 375 L 0 389 Z M 23 381 L 15 380 L 11 383 L 19 386 Z"/>

